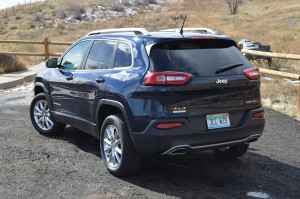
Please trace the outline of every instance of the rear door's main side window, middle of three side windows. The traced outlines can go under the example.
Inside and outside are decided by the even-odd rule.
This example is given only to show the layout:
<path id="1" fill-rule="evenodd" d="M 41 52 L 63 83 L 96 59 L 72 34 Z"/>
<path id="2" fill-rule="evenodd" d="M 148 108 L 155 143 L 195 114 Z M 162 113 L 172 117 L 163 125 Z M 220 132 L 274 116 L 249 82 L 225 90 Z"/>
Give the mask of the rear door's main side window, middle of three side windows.
<path id="1" fill-rule="evenodd" d="M 115 41 L 97 40 L 89 52 L 85 69 L 108 69 L 116 46 Z"/>

